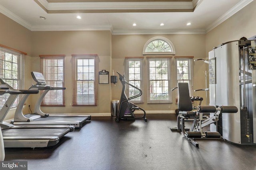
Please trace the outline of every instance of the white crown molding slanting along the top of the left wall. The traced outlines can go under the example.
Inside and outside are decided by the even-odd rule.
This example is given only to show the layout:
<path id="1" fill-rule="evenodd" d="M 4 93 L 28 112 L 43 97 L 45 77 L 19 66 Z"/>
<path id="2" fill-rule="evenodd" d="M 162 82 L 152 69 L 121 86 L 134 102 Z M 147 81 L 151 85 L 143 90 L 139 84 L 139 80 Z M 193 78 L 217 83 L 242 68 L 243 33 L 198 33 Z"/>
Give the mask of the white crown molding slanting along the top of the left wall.
<path id="1" fill-rule="evenodd" d="M 12 20 L 17 22 L 18 24 L 24 26 L 28 30 L 31 30 L 31 25 L 28 22 L 26 22 L 25 20 L 23 20 L 19 16 L 15 15 L 13 12 L 9 11 L 8 9 L 4 8 L 2 5 L 0 5 L 0 12 L 2 14 L 4 14 L 5 16 L 7 16 L 8 18 L 11 18 Z"/>

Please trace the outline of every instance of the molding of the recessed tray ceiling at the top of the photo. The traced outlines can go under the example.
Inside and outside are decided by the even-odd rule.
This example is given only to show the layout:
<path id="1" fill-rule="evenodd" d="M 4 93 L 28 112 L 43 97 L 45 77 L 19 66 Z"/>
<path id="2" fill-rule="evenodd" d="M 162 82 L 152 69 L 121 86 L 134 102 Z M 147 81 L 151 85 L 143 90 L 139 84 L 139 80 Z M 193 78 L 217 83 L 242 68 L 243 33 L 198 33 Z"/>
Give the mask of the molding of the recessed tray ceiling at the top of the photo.
<path id="1" fill-rule="evenodd" d="M 202 0 L 150 1 L 150 2 L 48 2 L 34 0 L 48 14 L 55 13 L 109 13 L 109 12 L 193 12 Z"/>

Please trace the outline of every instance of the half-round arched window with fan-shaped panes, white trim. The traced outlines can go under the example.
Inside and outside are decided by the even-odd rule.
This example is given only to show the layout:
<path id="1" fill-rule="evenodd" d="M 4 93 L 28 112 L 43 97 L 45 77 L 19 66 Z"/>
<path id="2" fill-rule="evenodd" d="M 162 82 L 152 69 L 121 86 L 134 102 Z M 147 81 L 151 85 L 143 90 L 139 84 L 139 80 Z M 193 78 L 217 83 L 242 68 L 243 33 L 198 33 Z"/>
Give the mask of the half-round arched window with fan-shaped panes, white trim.
<path id="1" fill-rule="evenodd" d="M 175 55 L 174 45 L 170 40 L 164 37 L 154 37 L 148 40 L 143 48 L 143 55 Z"/>

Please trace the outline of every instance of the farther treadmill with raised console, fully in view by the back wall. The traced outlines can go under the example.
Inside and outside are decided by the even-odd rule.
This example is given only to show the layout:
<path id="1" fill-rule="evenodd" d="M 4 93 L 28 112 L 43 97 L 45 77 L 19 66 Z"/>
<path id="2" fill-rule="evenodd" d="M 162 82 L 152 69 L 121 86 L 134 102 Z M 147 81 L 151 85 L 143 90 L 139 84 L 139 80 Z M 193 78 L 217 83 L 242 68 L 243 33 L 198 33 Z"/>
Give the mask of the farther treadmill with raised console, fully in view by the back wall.
<path id="1" fill-rule="evenodd" d="M 22 97 L 20 103 L 17 106 L 14 120 L 11 122 L 13 125 L 72 125 L 76 128 L 81 128 L 87 120 L 91 120 L 90 115 L 76 115 L 76 114 L 46 114 L 40 109 L 40 104 L 48 91 L 50 90 L 65 90 L 66 87 L 51 87 L 46 85 L 46 81 L 42 73 L 32 71 L 31 75 L 36 81 L 36 85 L 32 85 L 29 90 L 44 90 L 42 95 L 40 95 L 38 101 L 35 104 L 33 114 L 24 115 L 22 113 L 22 108 L 29 94 Z"/>

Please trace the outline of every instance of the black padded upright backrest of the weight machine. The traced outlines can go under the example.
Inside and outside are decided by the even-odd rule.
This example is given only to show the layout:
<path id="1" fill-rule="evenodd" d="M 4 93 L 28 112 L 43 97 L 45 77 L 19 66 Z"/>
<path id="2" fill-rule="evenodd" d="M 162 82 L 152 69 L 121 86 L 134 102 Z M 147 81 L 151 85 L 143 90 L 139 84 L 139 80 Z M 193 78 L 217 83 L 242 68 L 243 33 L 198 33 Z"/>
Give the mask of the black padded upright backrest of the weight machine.
<path id="1" fill-rule="evenodd" d="M 178 110 L 192 111 L 192 102 L 189 95 L 188 83 L 178 83 Z"/>

